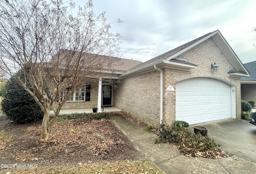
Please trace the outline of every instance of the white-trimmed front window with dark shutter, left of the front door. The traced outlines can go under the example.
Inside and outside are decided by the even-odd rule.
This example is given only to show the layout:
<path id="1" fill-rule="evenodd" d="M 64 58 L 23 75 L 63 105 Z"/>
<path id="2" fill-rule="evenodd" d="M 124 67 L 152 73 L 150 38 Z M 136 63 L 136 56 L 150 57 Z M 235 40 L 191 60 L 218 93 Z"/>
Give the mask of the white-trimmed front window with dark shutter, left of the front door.
<path id="1" fill-rule="evenodd" d="M 90 101 L 91 85 L 77 88 L 67 101 Z"/>

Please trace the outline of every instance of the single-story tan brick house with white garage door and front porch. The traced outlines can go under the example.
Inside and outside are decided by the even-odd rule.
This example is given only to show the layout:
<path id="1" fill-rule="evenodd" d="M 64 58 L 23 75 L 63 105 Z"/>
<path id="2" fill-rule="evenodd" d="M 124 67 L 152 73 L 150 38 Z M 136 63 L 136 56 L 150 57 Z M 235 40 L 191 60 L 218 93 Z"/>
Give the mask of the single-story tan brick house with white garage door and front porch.
<path id="1" fill-rule="evenodd" d="M 87 101 L 73 97 L 63 109 L 115 106 L 154 125 L 241 118 L 240 78 L 249 72 L 219 30 L 143 63 L 120 61 L 82 89 Z M 104 85 L 110 76 L 117 85 Z"/>

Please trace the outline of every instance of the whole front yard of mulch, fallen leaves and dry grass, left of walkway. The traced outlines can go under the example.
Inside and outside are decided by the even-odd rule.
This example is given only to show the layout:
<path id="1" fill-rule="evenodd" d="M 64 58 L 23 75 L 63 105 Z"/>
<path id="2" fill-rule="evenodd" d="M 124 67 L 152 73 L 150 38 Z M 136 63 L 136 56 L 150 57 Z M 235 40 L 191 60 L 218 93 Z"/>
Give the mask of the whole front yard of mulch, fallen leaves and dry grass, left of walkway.
<path id="1" fill-rule="evenodd" d="M 39 141 L 41 123 L 17 125 L 0 115 L 0 164 L 9 167 L 0 173 L 164 173 L 111 119 L 56 122 L 48 142 Z"/>

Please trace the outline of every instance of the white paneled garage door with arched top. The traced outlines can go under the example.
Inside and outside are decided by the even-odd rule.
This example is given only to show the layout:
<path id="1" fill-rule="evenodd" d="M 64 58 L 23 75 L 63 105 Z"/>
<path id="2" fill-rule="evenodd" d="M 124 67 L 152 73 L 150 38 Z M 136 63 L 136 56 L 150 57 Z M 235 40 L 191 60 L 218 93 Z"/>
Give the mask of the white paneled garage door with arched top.
<path id="1" fill-rule="evenodd" d="M 208 78 L 176 82 L 176 120 L 190 125 L 231 118 L 230 86 Z"/>

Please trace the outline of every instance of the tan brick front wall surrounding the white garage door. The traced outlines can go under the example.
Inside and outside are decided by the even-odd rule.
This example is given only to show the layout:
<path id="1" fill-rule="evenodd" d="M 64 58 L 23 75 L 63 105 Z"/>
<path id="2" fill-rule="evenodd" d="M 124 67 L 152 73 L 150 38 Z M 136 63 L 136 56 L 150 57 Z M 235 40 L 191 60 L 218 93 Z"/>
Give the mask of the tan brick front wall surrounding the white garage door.
<path id="1" fill-rule="evenodd" d="M 236 118 L 241 118 L 241 93 L 240 78 L 228 77 L 228 69 L 233 67 L 226 56 L 222 53 L 216 43 L 212 40 L 206 40 L 200 45 L 190 49 L 180 57 L 187 58 L 189 63 L 197 65 L 196 69 L 191 71 L 180 71 L 174 69 L 164 69 L 164 102 L 163 118 L 164 122 L 172 124 L 175 121 L 175 91 L 166 91 L 166 87 L 172 85 L 176 89 L 176 81 L 194 78 L 209 77 L 218 79 L 229 85 L 236 87 Z M 219 66 L 217 73 L 212 73 L 211 64 L 215 61 Z"/>

